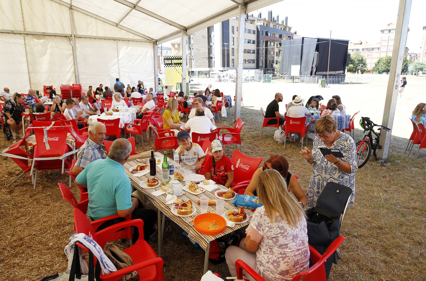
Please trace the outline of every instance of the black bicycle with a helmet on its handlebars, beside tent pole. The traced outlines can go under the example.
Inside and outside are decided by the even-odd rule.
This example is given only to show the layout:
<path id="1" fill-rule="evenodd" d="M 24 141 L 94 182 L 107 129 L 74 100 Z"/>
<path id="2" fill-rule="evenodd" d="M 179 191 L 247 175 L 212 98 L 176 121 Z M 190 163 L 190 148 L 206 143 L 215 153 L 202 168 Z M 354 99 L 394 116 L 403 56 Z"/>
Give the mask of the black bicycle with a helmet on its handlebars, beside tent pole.
<path id="1" fill-rule="evenodd" d="M 366 163 L 368 162 L 368 159 L 370 159 L 371 151 L 373 151 L 373 155 L 376 158 L 377 161 L 377 149 L 381 149 L 382 146 L 379 145 L 380 141 L 380 132 L 382 129 L 385 129 L 387 131 L 390 131 L 388 127 L 385 125 L 377 125 L 374 124 L 370 118 L 368 117 L 361 117 L 360 125 L 364 129 L 364 133 L 368 131 L 364 135 L 364 138 L 357 142 L 357 164 L 358 168 L 362 168 Z M 374 130 L 374 127 L 379 127 L 376 132 Z M 371 133 L 374 133 L 375 137 L 373 138 L 373 135 Z"/>

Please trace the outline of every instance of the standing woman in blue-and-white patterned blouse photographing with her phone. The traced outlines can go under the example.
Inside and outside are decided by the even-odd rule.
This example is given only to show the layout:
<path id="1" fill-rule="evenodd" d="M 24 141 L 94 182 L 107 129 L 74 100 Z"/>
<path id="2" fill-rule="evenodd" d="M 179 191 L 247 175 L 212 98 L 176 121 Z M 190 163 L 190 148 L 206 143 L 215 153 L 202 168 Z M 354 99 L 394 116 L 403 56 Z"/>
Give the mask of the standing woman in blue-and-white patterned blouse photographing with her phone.
<path id="1" fill-rule="evenodd" d="M 300 151 L 306 162 L 314 166 L 311 181 L 309 183 L 308 204 L 315 207 L 322 189 L 328 182 L 340 183 L 352 189 L 349 205 L 354 206 L 355 200 L 355 172 L 358 170 L 357 149 L 351 136 L 337 130 L 337 122 L 329 115 L 321 116 L 315 124 L 317 132 L 314 138 L 314 147 L 310 151 L 307 147 Z M 339 159 L 334 155 L 323 156 L 319 147 L 327 146 L 337 149 L 343 154 Z"/>

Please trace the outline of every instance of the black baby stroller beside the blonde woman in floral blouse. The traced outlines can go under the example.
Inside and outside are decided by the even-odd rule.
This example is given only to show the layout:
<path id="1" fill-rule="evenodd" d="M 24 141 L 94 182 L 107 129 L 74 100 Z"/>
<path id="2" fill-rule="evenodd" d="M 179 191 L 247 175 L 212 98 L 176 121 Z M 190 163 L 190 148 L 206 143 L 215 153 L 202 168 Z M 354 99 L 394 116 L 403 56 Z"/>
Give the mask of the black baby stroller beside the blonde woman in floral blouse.
<path id="1" fill-rule="evenodd" d="M 322 255 L 325 249 L 340 235 L 340 227 L 345 217 L 352 190 L 347 186 L 329 182 L 318 197 L 317 206 L 306 210 L 308 226 L 308 242 Z M 325 275 L 331 270 L 331 265 L 340 258 L 338 250 L 325 262 Z M 337 261 L 337 260 L 336 260 Z"/>

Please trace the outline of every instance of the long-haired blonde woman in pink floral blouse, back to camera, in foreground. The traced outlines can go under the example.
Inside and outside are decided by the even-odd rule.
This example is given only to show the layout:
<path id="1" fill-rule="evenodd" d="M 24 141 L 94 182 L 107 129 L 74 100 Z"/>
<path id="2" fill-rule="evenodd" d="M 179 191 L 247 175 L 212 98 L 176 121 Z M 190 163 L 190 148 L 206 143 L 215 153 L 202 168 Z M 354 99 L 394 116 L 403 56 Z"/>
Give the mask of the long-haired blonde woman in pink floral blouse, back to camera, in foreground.
<path id="1" fill-rule="evenodd" d="M 229 271 L 236 276 L 235 261 L 241 259 L 267 281 L 291 280 L 309 267 L 305 212 L 278 171 L 263 171 L 256 185 L 263 206 L 253 214 L 240 246 L 226 249 Z"/>

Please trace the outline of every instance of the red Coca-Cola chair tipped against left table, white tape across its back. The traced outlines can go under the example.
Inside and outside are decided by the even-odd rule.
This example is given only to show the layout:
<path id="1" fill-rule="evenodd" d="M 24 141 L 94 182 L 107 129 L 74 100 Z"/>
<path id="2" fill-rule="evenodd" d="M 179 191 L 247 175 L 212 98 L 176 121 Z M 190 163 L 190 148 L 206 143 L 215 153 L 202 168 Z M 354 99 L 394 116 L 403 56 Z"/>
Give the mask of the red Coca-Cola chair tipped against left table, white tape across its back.
<path id="1" fill-rule="evenodd" d="M 66 156 L 68 153 L 72 153 L 72 148 L 67 145 L 66 136 L 68 134 L 68 128 L 51 128 L 46 130 L 47 143 L 44 142 L 45 134 L 44 130 L 40 128 L 34 128 L 35 139 L 37 145 L 34 145 L 34 161 L 33 167 L 35 168 L 34 177 L 34 189 L 37 184 L 37 173 L 39 170 L 58 170 L 69 168 L 72 163 L 72 155 Z M 49 144 L 49 147 L 46 147 Z M 41 158 L 41 159 L 37 159 Z M 53 159 L 43 159 L 53 158 Z M 32 169 L 31 174 L 34 169 Z"/>

